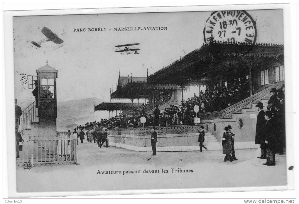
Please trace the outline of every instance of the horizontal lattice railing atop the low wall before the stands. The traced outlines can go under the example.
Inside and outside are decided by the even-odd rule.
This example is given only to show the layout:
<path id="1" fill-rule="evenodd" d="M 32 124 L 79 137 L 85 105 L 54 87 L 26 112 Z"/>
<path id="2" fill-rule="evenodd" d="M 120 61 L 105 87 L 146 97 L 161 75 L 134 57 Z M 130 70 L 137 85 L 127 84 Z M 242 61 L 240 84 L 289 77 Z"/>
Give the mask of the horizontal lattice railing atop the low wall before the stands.
<path id="1" fill-rule="evenodd" d="M 185 125 L 185 126 L 157 126 L 156 132 L 158 135 L 166 134 L 185 134 L 198 133 L 200 126 L 204 126 L 208 132 L 208 125 Z M 115 128 L 108 129 L 109 135 L 151 135 L 152 127 L 138 127 L 138 128 Z"/>

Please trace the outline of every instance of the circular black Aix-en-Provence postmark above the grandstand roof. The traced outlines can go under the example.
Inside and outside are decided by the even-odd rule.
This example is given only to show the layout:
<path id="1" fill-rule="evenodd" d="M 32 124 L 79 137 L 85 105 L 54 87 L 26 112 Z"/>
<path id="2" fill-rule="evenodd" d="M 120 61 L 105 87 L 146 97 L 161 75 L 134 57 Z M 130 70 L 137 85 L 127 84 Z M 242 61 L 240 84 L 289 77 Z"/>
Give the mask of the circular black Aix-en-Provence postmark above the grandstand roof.
<path id="1" fill-rule="evenodd" d="M 256 37 L 255 21 L 244 10 L 214 11 L 205 22 L 205 43 L 226 41 L 254 45 Z"/>

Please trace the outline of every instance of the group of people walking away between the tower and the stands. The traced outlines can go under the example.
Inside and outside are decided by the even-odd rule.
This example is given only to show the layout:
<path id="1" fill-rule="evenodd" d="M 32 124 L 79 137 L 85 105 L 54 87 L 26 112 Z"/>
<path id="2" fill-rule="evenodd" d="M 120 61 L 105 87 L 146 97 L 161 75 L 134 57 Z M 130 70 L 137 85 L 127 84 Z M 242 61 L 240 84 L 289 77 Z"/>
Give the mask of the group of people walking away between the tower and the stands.
<path id="1" fill-rule="evenodd" d="M 68 130 L 66 135 L 70 138 L 71 131 Z M 93 128 L 88 128 L 86 132 L 84 132 L 82 129 L 79 129 L 79 133 L 77 132 L 77 128 L 75 128 L 72 135 L 74 138 L 80 138 L 81 143 L 83 143 L 83 140 L 85 140 L 86 136 L 88 143 L 96 143 L 100 148 L 102 148 L 103 144 L 106 143 L 105 146 L 109 147 L 108 130 L 106 128 L 99 128 L 97 125 L 95 125 Z M 77 144 L 79 144 L 79 141 L 77 141 Z"/>

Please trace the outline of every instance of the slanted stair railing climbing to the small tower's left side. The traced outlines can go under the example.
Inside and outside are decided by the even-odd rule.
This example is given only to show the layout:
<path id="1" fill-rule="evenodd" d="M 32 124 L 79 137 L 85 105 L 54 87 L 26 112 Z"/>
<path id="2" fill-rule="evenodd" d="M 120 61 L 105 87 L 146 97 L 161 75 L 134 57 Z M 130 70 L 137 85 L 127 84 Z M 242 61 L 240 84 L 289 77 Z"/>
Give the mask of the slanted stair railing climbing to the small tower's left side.
<path id="1" fill-rule="evenodd" d="M 39 122 L 38 109 L 36 108 L 36 102 L 34 101 L 30 105 L 28 105 L 25 110 L 22 111 L 22 115 L 20 116 L 20 126 L 19 130 L 28 130 L 31 129 L 31 123 Z"/>

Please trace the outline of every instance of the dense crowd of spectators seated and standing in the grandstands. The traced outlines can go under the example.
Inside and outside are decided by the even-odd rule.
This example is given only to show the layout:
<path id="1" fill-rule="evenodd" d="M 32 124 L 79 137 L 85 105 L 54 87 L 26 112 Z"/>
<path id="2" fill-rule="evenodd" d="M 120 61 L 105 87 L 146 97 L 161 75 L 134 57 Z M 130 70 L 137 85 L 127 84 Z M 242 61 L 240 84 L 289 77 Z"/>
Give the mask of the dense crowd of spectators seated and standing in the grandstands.
<path id="1" fill-rule="evenodd" d="M 282 90 L 282 89 L 281 89 Z M 163 113 L 158 110 L 154 114 L 147 114 L 146 107 L 152 108 L 152 104 L 147 102 L 139 107 L 133 107 L 130 111 L 124 111 L 120 115 L 100 121 L 88 122 L 84 126 L 77 126 L 77 129 L 91 129 L 95 125 L 112 128 L 137 128 L 141 126 L 175 126 L 175 125 L 190 125 L 194 123 L 194 117 L 197 114 L 223 110 L 242 99 L 249 96 L 249 81 L 242 78 L 241 81 L 235 79 L 227 84 L 219 87 L 207 88 L 205 92 L 199 92 L 199 96 L 181 100 L 178 105 L 170 105 L 165 108 Z M 164 99 L 164 102 L 171 98 Z M 162 98 L 160 99 L 161 101 Z M 156 100 L 155 103 L 159 102 Z M 198 105 L 199 112 L 196 114 L 194 106 Z M 145 117 L 146 122 L 141 123 L 141 117 Z M 155 120 L 155 121 L 154 121 Z"/>

